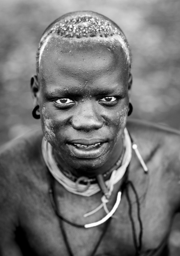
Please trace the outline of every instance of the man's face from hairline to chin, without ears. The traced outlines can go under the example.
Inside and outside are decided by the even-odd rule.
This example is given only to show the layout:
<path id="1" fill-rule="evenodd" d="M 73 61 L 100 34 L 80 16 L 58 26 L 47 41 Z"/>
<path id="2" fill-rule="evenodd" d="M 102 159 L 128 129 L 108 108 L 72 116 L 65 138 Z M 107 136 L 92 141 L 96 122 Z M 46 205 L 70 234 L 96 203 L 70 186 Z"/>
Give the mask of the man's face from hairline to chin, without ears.
<path id="1" fill-rule="evenodd" d="M 116 154 L 129 104 L 125 53 L 92 42 L 75 46 L 52 39 L 39 73 L 44 135 L 69 167 L 84 171 Z"/>

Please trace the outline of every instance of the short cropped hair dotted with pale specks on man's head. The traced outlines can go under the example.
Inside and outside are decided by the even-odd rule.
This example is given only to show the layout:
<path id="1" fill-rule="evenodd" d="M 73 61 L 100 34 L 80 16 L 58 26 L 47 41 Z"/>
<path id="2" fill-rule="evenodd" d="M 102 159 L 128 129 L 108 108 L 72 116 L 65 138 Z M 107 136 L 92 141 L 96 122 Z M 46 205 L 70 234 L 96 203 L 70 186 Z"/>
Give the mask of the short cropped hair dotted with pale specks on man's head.
<path id="1" fill-rule="evenodd" d="M 39 73 L 41 55 L 46 43 L 52 36 L 69 38 L 69 40 L 80 40 L 99 37 L 108 40 L 109 37 L 116 37 L 122 46 L 131 68 L 131 51 L 129 43 L 119 26 L 107 17 L 92 11 L 77 11 L 65 14 L 52 22 L 44 31 L 38 51 L 36 53 L 36 71 Z"/>

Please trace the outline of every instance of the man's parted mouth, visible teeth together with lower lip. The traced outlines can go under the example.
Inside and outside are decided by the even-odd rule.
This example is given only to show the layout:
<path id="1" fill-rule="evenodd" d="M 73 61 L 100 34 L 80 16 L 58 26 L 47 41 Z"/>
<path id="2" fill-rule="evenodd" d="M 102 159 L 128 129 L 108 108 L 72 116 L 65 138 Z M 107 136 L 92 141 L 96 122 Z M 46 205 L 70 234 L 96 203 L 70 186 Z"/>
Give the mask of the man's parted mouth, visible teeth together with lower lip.
<path id="1" fill-rule="evenodd" d="M 107 146 L 107 142 L 97 142 L 91 145 L 79 143 L 67 143 L 71 153 L 78 158 L 96 158 L 99 157 Z"/>

